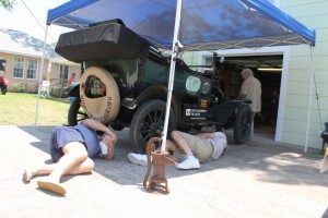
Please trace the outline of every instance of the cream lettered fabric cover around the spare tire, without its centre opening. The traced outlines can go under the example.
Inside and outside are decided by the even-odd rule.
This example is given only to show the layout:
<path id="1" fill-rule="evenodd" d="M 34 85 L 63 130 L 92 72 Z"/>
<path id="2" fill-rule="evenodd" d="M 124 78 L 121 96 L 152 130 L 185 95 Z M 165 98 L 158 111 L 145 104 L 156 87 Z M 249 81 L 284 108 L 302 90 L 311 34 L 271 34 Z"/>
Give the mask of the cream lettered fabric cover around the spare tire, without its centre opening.
<path id="1" fill-rule="evenodd" d="M 85 85 L 89 76 L 97 76 L 106 86 L 106 96 L 89 98 L 85 96 L 83 84 Z M 85 86 L 84 86 L 85 87 Z M 110 73 L 97 66 L 87 68 L 81 76 L 80 98 L 89 118 L 95 119 L 104 124 L 109 124 L 118 114 L 120 97 L 118 86 Z"/>

